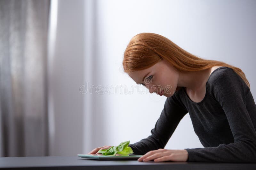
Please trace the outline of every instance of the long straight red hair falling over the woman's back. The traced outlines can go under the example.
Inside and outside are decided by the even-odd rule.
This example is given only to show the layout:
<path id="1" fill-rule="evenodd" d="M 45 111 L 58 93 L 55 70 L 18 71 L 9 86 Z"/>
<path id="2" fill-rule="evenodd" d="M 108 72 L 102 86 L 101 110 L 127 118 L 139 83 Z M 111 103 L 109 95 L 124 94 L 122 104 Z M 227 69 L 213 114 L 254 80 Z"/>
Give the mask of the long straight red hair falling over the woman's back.
<path id="1" fill-rule="evenodd" d="M 205 60 L 188 53 L 166 37 L 155 33 L 140 33 L 132 37 L 124 51 L 124 72 L 130 73 L 147 69 L 165 59 L 179 72 L 194 72 L 225 66 L 232 68 L 250 89 L 250 83 L 244 72 L 232 65 L 217 60 Z"/>

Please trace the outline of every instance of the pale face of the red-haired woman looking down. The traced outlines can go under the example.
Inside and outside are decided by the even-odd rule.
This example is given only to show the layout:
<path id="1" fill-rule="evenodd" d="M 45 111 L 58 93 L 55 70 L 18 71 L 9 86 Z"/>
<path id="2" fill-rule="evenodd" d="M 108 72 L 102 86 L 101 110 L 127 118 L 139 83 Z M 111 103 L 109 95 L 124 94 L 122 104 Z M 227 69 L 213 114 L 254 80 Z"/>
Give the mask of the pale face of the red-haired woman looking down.
<path id="1" fill-rule="evenodd" d="M 134 71 L 128 75 L 137 84 L 144 85 L 150 93 L 170 97 L 176 91 L 179 72 L 165 59 L 144 70 Z"/>

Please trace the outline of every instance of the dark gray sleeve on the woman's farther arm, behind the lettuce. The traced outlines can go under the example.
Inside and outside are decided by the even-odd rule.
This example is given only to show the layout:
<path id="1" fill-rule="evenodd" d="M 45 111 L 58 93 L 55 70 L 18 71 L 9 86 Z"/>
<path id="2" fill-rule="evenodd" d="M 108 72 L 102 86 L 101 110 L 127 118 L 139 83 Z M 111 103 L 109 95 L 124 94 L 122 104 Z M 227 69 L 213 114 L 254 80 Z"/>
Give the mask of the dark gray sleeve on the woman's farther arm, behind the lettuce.
<path id="1" fill-rule="evenodd" d="M 133 153 L 144 155 L 148 151 L 164 148 L 180 120 L 187 113 L 188 111 L 182 107 L 176 94 L 167 97 L 164 103 L 164 109 L 156 121 L 155 128 L 151 130 L 151 135 L 148 138 L 129 145 Z"/>

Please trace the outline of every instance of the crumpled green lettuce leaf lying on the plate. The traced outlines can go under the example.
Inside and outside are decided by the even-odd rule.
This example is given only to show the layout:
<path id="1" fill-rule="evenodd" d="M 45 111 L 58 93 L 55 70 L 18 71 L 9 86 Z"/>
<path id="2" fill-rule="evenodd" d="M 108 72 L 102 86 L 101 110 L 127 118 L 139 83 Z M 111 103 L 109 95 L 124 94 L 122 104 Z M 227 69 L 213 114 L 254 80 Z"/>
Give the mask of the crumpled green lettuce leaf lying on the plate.
<path id="1" fill-rule="evenodd" d="M 128 146 L 130 140 L 120 143 L 118 146 L 111 146 L 108 149 L 102 149 L 98 151 L 102 155 L 114 156 L 116 154 L 129 155 L 133 153 L 132 148 Z"/>

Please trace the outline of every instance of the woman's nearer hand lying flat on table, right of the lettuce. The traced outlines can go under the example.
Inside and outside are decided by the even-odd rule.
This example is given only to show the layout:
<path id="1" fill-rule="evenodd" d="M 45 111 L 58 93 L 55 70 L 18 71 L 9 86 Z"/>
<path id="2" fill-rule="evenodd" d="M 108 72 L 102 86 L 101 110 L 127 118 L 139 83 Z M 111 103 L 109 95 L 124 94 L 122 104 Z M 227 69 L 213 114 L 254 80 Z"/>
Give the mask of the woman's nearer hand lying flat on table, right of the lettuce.
<path id="1" fill-rule="evenodd" d="M 170 149 L 158 149 L 149 151 L 138 161 L 148 162 L 154 160 L 155 162 L 174 161 L 174 162 L 186 162 L 188 160 L 188 152 L 185 149 L 182 150 L 170 150 Z"/>

